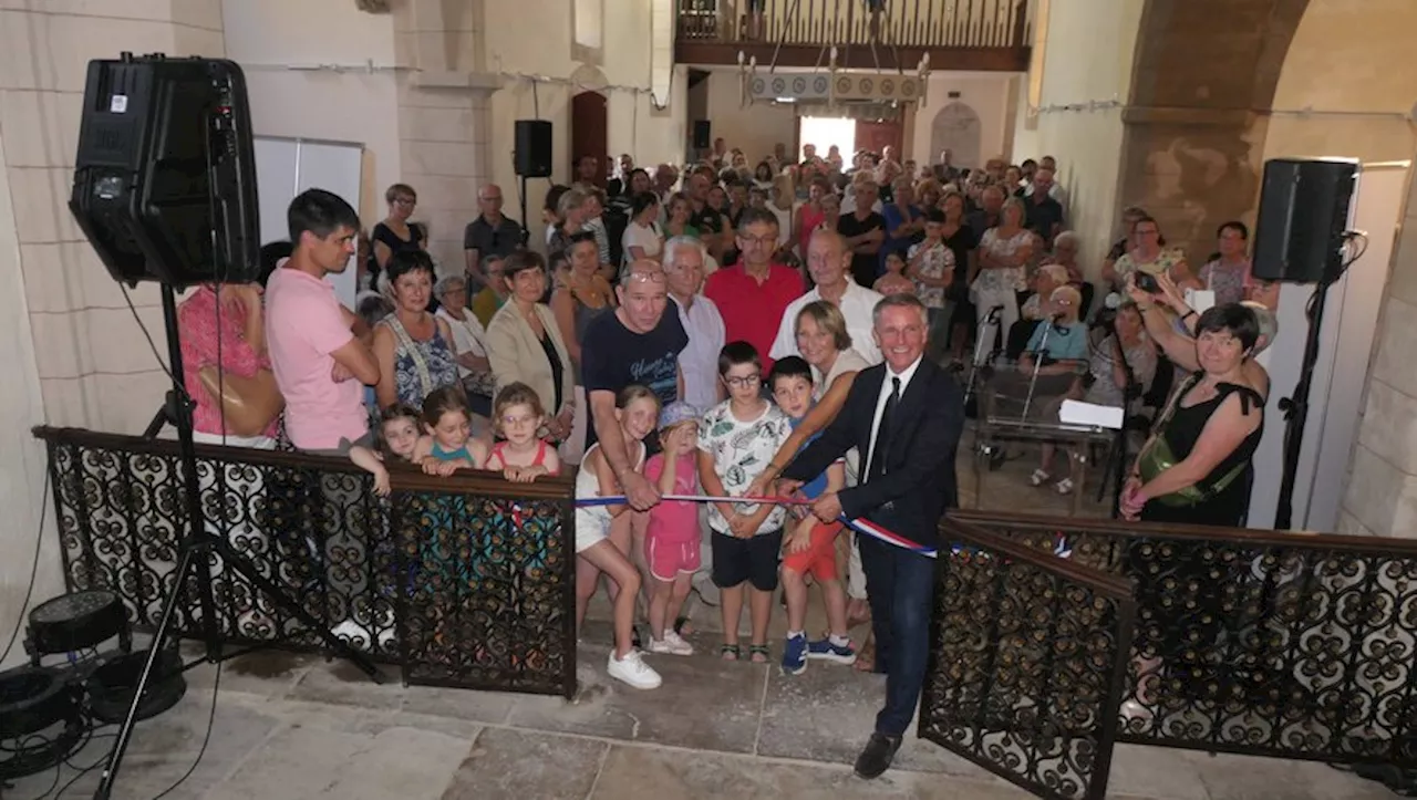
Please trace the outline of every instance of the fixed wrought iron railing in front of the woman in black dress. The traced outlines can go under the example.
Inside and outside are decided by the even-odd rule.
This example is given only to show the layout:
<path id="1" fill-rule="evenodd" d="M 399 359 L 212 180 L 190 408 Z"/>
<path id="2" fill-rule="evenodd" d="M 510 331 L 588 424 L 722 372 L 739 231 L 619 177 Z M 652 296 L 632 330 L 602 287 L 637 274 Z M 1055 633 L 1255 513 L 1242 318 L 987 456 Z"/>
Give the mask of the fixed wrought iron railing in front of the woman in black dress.
<path id="1" fill-rule="evenodd" d="M 1135 582 L 1118 742 L 1417 767 L 1417 542 L 951 518 Z"/>

